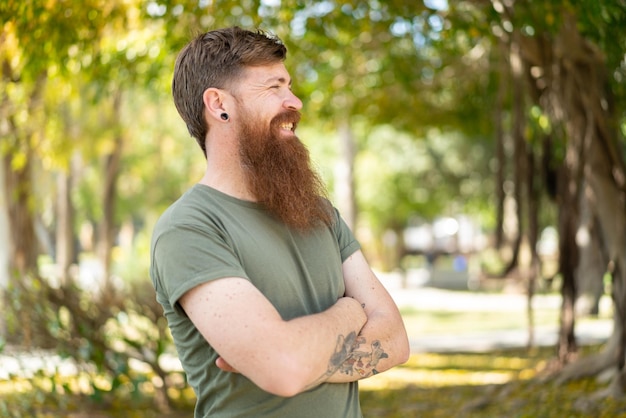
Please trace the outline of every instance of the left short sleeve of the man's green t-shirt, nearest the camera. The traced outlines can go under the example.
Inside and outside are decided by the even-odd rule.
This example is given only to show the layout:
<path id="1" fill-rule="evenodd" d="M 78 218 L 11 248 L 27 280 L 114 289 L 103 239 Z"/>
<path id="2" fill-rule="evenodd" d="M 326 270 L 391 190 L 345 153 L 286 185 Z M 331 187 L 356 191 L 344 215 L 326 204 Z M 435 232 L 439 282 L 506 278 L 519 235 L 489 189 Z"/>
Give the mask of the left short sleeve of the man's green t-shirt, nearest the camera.
<path id="1" fill-rule="evenodd" d="M 227 239 L 215 229 L 172 226 L 159 235 L 152 257 L 157 291 L 179 313 L 183 313 L 180 297 L 202 283 L 225 277 L 248 279 Z"/>

